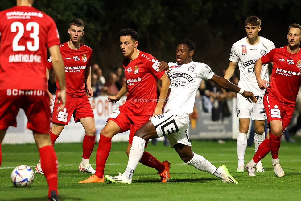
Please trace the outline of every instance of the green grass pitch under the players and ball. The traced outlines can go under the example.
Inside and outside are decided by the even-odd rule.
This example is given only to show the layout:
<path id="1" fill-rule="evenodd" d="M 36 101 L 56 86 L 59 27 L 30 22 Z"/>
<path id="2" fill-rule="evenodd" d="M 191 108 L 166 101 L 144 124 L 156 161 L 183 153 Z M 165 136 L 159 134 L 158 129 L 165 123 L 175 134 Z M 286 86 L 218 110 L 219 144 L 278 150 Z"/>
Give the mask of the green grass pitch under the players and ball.
<path id="1" fill-rule="evenodd" d="M 130 185 L 93 183 L 79 184 L 88 178 L 87 173 L 79 173 L 78 165 L 82 156 L 81 144 L 56 144 L 59 160 L 60 200 L 300 200 L 301 199 L 301 139 L 298 143 L 281 144 L 280 164 L 285 177 L 275 176 L 271 155 L 268 154 L 262 165 L 266 172 L 235 173 L 237 168 L 236 141 L 218 144 L 213 141 L 192 141 L 194 152 L 207 158 L 216 167 L 226 165 L 239 184 L 224 184 L 217 177 L 201 172 L 179 158 L 174 149 L 149 144 L 146 151 L 160 161 L 171 162 L 169 183 L 160 183 L 156 170 L 139 164 Z M 105 174 L 123 173 L 128 158 L 125 150 L 127 143 L 113 143 L 110 156 L 105 166 Z M 90 158 L 95 168 L 97 144 Z M 245 155 L 247 163 L 254 155 L 254 147 L 248 147 Z M 2 165 L 0 169 L 0 200 L 47 200 L 45 177 L 35 175 L 35 181 L 29 188 L 15 188 L 10 181 L 13 168 L 18 165 L 35 167 L 39 154 L 34 144 L 2 145 Z M 73 165 L 72 165 L 73 164 Z M 33 168 L 34 169 L 34 168 Z"/>

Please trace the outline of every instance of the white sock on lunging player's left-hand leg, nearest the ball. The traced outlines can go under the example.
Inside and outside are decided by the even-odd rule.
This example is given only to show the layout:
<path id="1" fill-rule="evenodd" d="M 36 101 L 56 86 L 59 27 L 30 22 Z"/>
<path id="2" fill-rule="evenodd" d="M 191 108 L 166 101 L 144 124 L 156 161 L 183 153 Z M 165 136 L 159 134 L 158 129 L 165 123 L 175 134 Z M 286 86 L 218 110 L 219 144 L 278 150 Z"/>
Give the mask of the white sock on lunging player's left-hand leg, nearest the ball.
<path id="1" fill-rule="evenodd" d="M 133 173 L 142 158 L 143 152 L 145 147 L 145 140 L 134 136 L 132 147 L 129 154 L 129 162 L 126 166 L 126 171 L 123 173 L 123 175 L 127 179 L 131 179 L 133 177 Z"/>

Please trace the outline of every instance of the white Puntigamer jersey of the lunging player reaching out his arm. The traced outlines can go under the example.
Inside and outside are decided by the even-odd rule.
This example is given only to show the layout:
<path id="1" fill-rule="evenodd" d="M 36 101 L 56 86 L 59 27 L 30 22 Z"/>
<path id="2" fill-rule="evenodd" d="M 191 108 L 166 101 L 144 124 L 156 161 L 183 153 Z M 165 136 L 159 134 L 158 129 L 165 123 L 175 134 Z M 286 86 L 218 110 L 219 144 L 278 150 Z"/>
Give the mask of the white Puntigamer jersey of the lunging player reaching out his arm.
<path id="1" fill-rule="evenodd" d="M 164 105 L 163 112 L 177 110 L 190 114 L 202 79 L 211 79 L 214 73 L 207 64 L 199 62 L 183 65 L 168 63 L 168 66 L 171 83 L 167 95 L 169 101 Z"/>

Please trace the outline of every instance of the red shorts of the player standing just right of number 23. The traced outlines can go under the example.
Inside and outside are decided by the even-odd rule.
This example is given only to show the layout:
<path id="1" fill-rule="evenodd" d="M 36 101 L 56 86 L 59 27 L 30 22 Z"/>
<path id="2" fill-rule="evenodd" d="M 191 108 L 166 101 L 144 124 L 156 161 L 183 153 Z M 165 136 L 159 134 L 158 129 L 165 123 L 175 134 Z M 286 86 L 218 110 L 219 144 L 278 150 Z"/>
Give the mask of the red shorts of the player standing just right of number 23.
<path id="1" fill-rule="evenodd" d="M 58 92 L 59 91 L 56 92 L 56 95 Z M 52 123 L 68 125 L 72 114 L 75 122 L 80 122 L 80 119 L 85 117 L 94 118 L 92 106 L 86 95 L 82 97 L 72 97 L 66 94 L 65 108 L 63 111 L 57 112 L 56 110 L 60 108 L 60 105 L 60 103 L 56 104 L 56 100 L 54 101 Z"/>

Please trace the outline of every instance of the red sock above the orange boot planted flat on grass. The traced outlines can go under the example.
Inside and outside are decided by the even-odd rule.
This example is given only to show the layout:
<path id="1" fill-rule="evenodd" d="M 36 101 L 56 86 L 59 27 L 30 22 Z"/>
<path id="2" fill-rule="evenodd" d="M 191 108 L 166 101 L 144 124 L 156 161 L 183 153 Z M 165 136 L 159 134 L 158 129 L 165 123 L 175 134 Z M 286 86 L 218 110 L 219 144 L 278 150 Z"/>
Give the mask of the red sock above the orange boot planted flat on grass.
<path id="1" fill-rule="evenodd" d="M 105 170 L 105 163 L 109 157 L 111 151 L 112 138 L 108 138 L 104 135 L 100 135 L 99 143 L 96 152 L 96 172 L 95 176 L 103 178 Z"/>

